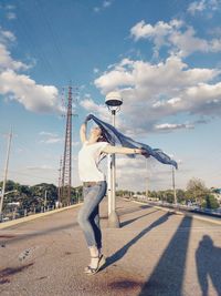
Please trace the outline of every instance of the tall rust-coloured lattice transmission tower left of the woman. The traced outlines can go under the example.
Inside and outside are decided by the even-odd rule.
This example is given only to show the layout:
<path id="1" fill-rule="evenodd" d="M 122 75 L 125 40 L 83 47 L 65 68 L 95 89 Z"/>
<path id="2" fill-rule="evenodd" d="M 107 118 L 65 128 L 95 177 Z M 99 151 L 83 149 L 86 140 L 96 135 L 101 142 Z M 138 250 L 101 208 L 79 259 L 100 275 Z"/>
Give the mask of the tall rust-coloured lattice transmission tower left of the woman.
<path id="1" fill-rule="evenodd" d="M 72 187 L 72 86 L 69 86 L 69 102 L 66 112 L 66 132 L 64 156 L 62 165 L 61 202 L 63 205 L 71 203 Z"/>

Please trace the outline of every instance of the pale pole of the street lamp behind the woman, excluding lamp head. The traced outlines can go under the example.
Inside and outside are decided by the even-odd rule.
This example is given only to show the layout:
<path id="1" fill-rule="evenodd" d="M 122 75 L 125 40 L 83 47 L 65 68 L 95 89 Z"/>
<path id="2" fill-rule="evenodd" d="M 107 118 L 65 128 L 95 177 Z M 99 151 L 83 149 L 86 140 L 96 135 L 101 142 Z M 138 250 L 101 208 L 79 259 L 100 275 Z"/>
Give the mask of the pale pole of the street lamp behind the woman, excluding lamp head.
<path id="1" fill-rule="evenodd" d="M 112 123 L 115 126 L 116 110 L 112 110 Z M 116 163 L 115 154 L 112 154 L 112 198 L 110 198 L 110 214 L 108 216 L 108 226 L 113 228 L 119 228 L 119 218 L 116 213 Z"/>

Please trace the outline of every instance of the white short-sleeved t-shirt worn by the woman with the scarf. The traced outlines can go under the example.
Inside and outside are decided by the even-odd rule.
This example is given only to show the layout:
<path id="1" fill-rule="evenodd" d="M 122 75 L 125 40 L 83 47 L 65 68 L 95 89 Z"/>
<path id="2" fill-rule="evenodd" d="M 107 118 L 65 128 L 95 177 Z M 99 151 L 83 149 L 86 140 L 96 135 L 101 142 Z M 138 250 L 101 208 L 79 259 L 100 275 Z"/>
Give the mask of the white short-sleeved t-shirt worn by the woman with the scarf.
<path id="1" fill-rule="evenodd" d="M 82 182 L 105 181 L 105 175 L 99 171 L 101 153 L 108 145 L 107 142 L 88 144 L 85 142 L 78 152 L 78 174 Z"/>

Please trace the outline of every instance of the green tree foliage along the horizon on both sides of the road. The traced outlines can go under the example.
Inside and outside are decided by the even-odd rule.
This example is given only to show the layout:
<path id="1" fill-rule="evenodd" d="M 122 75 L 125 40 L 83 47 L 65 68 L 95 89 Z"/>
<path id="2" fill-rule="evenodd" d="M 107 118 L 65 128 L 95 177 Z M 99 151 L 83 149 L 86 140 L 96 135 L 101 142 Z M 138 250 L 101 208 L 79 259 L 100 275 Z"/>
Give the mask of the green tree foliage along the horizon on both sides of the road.
<path id="1" fill-rule="evenodd" d="M 2 187 L 2 182 L 0 182 Z M 20 208 L 27 208 L 28 211 L 40 211 L 42 206 L 53 206 L 57 201 L 57 187 L 54 184 L 40 183 L 34 186 L 21 185 L 9 180 L 6 184 L 6 193 L 12 192 L 6 195 L 4 204 L 6 207 L 9 203 L 19 202 Z M 82 200 L 83 187 L 78 186 L 71 191 L 72 202 L 78 202 Z M 212 192 L 215 192 L 212 188 Z M 130 197 L 135 193 L 128 190 L 118 190 L 117 196 Z M 146 192 L 138 191 L 137 194 L 146 195 Z M 181 204 L 187 204 L 188 201 L 198 203 L 199 205 L 207 208 L 218 208 L 219 203 L 209 190 L 204 186 L 203 182 L 199 178 L 191 178 L 188 182 L 187 191 L 177 190 L 177 201 Z M 175 202 L 175 195 L 172 190 L 166 191 L 148 191 L 148 197 L 156 198 L 167 203 Z"/>

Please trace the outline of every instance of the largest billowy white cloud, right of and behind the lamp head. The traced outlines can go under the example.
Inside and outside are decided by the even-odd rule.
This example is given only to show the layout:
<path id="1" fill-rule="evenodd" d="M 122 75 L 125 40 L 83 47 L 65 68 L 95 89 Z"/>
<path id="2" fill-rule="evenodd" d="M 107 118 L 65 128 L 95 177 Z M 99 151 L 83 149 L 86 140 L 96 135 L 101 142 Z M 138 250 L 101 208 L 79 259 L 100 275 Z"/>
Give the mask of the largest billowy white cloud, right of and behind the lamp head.
<path id="1" fill-rule="evenodd" d="M 193 129 L 200 124 L 175 122 L 171 116 L 179 114 L 203 114 L 209 119 L 219 115 L 220 83 L 212 83 L 219 74 L 218 69 L 191 69 L 175 55 L 157 64 L 124 59 L 97 78 L 95 85 L 103 94 L 116 89 L 122 93 L 125 116 L 119 127 L 130 136 L 141 136 L 148 131 Z M 92 99 L 86 105 L 101 112 Z M 168 118 L 173 122 L 168 122 Z"/>

